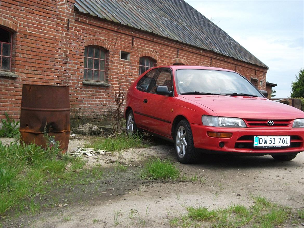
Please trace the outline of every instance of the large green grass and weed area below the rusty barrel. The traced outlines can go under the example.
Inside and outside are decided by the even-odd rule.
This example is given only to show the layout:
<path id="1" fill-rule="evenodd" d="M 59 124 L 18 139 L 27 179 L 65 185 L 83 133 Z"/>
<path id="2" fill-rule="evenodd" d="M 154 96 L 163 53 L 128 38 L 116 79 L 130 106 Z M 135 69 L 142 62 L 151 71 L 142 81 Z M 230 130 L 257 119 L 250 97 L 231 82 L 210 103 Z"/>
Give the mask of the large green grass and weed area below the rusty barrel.
<path id="1" fill-rule="evenodd" d="M 44 195 L 56 181 L 69 179 L 73 169 L 66 171 L 68 163 L 78 168 L 85 164 L 81 157 L 62 154 L 57 146 L 42 148 L 17 142 L 6 146 L 0 142 L 0 218 L 9 209 L 24 207 L 24 199 Z"/>

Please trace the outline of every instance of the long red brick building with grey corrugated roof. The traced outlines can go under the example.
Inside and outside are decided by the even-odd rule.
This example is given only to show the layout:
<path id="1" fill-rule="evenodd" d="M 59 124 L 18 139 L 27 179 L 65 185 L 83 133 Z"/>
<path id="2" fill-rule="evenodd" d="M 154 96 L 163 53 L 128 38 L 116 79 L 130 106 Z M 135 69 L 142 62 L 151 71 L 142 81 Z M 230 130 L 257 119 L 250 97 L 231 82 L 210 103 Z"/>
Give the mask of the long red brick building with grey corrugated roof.
<path id="1" fill-rule="evenodd" d="M 22 84 L 68 85 L 71 125 L 108 121 L 152 66 L 222 67 L 266 88 L 268 67 L 183 0 L 1 0 L 0 119 Z"/>

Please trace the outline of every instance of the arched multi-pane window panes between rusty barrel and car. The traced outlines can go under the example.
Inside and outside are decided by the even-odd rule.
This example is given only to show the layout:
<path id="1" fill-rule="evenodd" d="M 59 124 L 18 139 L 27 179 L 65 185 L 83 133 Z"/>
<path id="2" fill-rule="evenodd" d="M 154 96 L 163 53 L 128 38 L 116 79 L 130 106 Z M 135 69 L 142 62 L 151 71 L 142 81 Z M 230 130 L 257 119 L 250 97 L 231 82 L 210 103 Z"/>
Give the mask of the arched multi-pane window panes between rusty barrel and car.
<path id="1" fill-rule="evenodd" d="M 85 80 L 105 81 L 106 50 L 95 46 L 85 47 Z"/>

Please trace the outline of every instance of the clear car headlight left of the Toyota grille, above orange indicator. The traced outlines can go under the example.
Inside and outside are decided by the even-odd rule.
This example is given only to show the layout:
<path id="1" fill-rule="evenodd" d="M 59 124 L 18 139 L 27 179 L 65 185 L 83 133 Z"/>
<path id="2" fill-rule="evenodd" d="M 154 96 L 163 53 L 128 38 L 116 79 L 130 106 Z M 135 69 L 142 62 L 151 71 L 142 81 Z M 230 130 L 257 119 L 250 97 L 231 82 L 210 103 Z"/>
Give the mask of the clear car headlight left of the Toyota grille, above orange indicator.
<path id="1" fill-rule="evenodd" d="M 212 127 L 246 127 L 244 120 L 240 118 L 218 117 L 218 116 L 202 116 L 202 123 Z"/>

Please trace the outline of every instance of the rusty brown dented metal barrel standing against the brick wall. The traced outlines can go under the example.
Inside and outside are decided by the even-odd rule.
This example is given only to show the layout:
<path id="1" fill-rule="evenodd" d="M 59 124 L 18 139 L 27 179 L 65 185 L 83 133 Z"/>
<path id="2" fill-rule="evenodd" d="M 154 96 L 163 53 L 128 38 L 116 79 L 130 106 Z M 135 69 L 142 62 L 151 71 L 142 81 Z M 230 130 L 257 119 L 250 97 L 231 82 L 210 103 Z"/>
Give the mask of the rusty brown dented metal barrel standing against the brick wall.
<path id="1" fill-rule="evenodd" d="M 70 98 L 68 86 L 22 85 L 20 113 L 21 141 L 46 147 L 44 136 L 55 136 L 67 151 L 70 139 Z"/>

